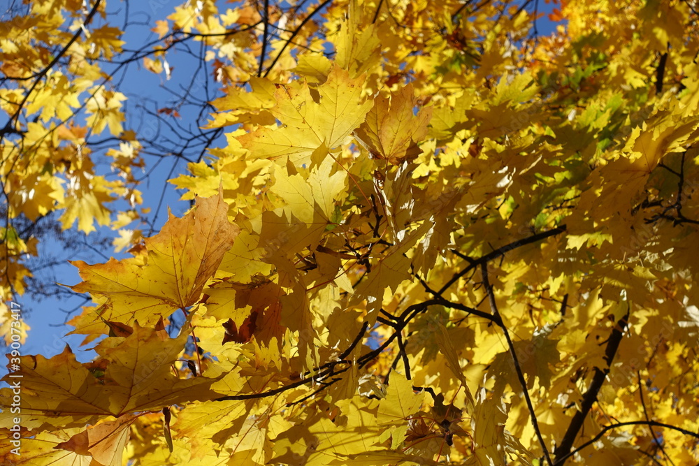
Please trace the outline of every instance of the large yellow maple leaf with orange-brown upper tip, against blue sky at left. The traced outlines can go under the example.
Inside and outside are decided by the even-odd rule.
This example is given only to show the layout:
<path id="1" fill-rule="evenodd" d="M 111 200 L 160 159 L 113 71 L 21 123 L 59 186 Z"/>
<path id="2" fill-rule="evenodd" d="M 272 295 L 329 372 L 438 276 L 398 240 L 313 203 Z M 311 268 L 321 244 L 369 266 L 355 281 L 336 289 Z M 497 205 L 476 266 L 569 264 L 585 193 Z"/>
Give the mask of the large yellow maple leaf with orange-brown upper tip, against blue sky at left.
<path id="1" fill-rule="evenodd" d="M 160 233 L 145 240 L 145 265 L 135 259 L 96 265 L 75 261 L 84 281 L 72 289 L 108 298 L 101 307 L 103 319 L 155 323 L 199 300 L 239 232 L 228 219 L 222 194 L 197 198 L 194 210 L 182 219 L 171 214 Z"/>

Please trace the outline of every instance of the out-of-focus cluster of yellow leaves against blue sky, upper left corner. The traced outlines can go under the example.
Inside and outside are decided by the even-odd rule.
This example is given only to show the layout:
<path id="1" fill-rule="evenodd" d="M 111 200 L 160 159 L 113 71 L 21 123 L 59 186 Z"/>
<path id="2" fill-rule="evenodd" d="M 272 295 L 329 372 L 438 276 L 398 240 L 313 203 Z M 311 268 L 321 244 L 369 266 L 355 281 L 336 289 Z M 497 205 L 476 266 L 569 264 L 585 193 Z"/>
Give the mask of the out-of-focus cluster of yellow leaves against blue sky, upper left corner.
<path id="1" fill-rule="evenodd" d="M 132 169 L 143 165 L 134 133 L 122 126 L 126 98 L 110 89 L 96 61 L 121 51 L 121 31 L 93 27 L 92 18 L 105 12 L 103 2 L 90 13 L 82 8 L 80 1 L 31 2 L 0 23 L 0 110 L 6 125 L 0 141 L 2 300 L 24 292 L 31 270 L 22 256 L 36 254 L 35 244 L 14 240 L 15 222 L 60 212 L 64 229 L 77 221 L 78 230 L 90 233 L 95 224 L 110 224 L 110 202 L 140 203 Z M 82 119 L 76 118 L 82 109 Z M 113 154 L 117 180 L 99 172 L 87 142 L 107 128 L 129 145 L 121 156 Z"/>

